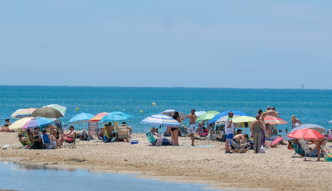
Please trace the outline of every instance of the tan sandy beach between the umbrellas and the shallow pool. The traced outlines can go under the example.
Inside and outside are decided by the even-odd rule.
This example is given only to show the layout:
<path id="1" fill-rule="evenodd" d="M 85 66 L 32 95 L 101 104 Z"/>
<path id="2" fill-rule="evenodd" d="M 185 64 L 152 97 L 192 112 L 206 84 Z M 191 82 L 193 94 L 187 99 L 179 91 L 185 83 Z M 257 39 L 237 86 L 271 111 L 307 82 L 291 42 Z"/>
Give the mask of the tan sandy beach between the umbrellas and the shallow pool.
<path id="1" fill-rule="evenodd" d="M 331 163 L 317 158 L 292 157 L 293 150 L 278 146 L 268 154 L 225 154 L 224 143 L 195 140 L 198 145 L 215 147 L 148 146 L 145 134 L 133 134 L 139 144 L 77 141 L 76 149 L 29 150 L 16 133 L 0 133 L 0 160 L 52 167 L 79 167 L 96 172 L 140 173 L 141 177 L 164 181 L 199 182 L 223 190 L 327 190 Z M 180 145 L 190 138 L 179 137 Z M 327 143 L 327 146 L 332 145 Z M 321 160 L 324 160 L 321 158 Z M 0 188 L 1 189 L 1 188 Z"/>

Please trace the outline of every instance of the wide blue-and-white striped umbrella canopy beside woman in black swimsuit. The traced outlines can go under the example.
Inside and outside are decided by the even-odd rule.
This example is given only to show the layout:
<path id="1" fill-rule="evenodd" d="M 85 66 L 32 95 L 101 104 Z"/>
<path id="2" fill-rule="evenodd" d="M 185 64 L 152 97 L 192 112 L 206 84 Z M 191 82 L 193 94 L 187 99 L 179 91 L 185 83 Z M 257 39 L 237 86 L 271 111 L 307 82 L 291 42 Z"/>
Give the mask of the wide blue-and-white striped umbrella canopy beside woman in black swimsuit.
<path id="1" fill-rule="evenodd" d="M 141 121 L 143 124 L 149 125 L 162 125 L 162 126 L 169 126 L 169 127 L 180 127 L 181 123 L 177 120 L 173 119 L 170 116 L 157 114 L 147 117 Z"/>

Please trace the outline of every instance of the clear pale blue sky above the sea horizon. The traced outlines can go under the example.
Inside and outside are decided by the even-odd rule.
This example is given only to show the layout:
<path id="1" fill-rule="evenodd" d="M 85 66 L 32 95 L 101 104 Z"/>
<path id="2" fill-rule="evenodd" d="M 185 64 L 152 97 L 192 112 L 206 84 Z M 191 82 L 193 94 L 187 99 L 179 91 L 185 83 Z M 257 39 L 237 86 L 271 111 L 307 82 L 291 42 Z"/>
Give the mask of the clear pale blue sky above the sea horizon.
<path id="1" fill-rule="evenodd" d="M 0 85 L 332 89 L 329 1 L 1 1 Z"/>

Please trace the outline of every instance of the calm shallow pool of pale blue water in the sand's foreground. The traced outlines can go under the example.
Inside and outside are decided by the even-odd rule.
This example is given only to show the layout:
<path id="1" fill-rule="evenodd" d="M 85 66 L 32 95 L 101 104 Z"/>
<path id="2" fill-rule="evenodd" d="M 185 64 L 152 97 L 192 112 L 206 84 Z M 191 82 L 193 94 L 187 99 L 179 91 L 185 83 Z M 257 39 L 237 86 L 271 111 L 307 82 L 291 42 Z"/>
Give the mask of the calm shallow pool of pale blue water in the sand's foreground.
<path id="1" fill-rule="evenodd" d="M 138 174 L 89 172 L 80 168 L 52 168 L 0 161 L 0 189 L 31 190 L 181 190 L 212 191 L 198 183 L 162 182 L 135 178 Z"/>

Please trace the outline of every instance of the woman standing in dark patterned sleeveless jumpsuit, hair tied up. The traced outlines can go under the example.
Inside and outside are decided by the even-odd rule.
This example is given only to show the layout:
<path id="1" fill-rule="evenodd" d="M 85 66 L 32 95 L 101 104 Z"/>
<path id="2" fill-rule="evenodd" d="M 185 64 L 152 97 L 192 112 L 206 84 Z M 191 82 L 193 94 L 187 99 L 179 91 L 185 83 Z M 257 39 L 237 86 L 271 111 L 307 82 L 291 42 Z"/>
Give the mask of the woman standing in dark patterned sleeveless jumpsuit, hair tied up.
<path id="1" fill-rule="evenodd" d="M 251 127 L 250 127 L 250 131 L 251 131 L 251 133 L 253 135 L 253 139 L 254 139 L 254 153 L 259 153 L 259 150 L 261 148 L 263 130 L 264 130 L 263 122 L 260 120 L 260 116 L 257 114 L 256 120 L 252 122 Z"/>

